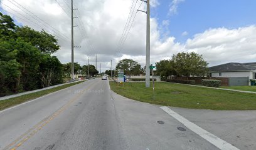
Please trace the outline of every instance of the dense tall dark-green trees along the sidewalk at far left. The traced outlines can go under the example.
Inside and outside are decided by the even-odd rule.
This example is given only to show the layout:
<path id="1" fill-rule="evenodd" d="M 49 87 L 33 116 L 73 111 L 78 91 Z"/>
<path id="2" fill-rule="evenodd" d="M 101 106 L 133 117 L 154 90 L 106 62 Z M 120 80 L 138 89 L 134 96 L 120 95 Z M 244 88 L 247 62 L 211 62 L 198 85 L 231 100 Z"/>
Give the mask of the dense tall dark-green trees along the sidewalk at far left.
<path id="1" fill-rule="evenodd" d="M 0 96 L 63 83 L 57 40 L 45 31 L 19 27 L 0 12 Z"/>

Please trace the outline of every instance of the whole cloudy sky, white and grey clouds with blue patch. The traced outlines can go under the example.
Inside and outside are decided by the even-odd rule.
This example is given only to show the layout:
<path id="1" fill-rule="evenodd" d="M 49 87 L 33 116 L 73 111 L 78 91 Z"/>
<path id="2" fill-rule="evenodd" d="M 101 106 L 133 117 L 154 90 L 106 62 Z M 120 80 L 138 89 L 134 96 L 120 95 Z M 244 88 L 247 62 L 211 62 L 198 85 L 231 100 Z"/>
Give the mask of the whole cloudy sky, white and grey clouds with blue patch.
<path id="1" fill-rule="evenodd" d="M 146 3 L 137 0 L 73 0 L 75 62 L 102 71 L 124 58 L 146 62 Z M 0 0 L 0 11 L 20 26 L 45 29 L 71 60 L 70 0 Z M 255 0 L 151 0 L 151 64 L 179 52 L 202 54 L 209 66 L 256 61 Z M 133 11 L 134 10 L 134 11 Z M 129 18 L 129 14 L 131 19 Z M 135 19 L 134 19 L 134 16 Z M 132 23 L 133 22 L 133 23 Z M 126 24 L 126 27 L 125 27 Z M 131 26 L 131 30 L 130 30 Z M 123 34 L 124 33 L 124 34 Z M 128 34 L 129 33 L 129 34 Z"/>

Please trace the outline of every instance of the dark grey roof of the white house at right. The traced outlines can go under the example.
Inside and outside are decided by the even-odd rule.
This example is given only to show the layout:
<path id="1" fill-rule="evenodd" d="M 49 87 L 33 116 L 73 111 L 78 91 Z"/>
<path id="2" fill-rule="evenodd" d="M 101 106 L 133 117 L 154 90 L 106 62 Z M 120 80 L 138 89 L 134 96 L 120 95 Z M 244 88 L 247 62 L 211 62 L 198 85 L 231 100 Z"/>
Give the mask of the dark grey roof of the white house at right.
<path id="1" fill-rule="evenodd" d="M 210 72 L 220 72 L 220 71 L 252 71 L 256 70 L 255 66 L 250 64 L 241 64 L 241 63 L 227 63 L 220 64 L 218 66 L 212 66 L 209 68 Z"/>

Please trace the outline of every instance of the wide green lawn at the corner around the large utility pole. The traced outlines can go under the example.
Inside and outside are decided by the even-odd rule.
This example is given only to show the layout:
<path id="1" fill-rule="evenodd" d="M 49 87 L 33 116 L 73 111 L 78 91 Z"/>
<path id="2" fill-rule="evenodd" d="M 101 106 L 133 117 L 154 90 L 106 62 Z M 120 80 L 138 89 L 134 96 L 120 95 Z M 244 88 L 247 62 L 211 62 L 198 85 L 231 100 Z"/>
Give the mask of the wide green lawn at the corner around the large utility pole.
<path id="1" fill-rule="evenodd" d="M 131 82 L 119 86 L 114 81 L 110 81 L 110 88 L 126 98 L 163 106 L 213 110 L 256 110 L 256 94 L 250 93 L 183 84 L 156 83 L 156 97 L 153 99 L 152 87 L 145 88 L 145 83 Z"/>

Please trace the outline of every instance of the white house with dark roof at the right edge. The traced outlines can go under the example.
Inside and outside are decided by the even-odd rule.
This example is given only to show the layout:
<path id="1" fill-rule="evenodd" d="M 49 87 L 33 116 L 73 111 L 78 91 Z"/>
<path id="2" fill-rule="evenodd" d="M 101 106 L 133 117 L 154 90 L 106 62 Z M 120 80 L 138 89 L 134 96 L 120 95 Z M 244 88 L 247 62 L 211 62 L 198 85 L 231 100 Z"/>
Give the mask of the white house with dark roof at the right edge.
<path id="1" fill-rule="evenodd" d="M 220 64 L 218 66 L 212 66 L 209 68 L 210 77 L 247 77 L 250 79 L 256 79 L 256 62 L 255 63 L 227 63 Z M 248 82 L 249 83 L 249 82 Z"/>

